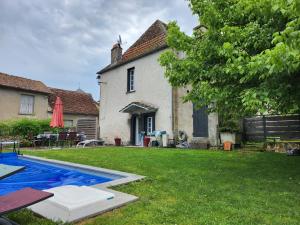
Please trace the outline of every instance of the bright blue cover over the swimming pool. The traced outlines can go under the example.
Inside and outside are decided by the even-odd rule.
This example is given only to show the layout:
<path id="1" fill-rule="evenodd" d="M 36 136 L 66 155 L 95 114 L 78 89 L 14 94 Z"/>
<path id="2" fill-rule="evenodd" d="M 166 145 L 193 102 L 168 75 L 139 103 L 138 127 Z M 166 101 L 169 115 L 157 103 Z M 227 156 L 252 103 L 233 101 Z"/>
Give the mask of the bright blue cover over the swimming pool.
<path id="1" fill-rule="evenodd" d="M 25 166 L 25 169 L 0 180 L 0 195 L 31 187 L 44 190 L 62 185 L 94 185 L 112 179 L 84 173 L 72 167 L 26 160 L 15 153 L 0 153 L 0 164 Z"/>

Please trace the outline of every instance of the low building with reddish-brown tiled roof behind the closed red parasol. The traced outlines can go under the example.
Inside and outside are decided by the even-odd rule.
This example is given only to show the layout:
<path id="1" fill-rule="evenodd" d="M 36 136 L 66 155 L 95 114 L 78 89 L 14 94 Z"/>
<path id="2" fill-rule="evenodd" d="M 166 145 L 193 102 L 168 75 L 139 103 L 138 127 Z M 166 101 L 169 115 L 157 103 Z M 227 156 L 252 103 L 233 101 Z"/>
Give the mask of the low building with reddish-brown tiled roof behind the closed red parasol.
<path id="1" fill-rule="evenodd" d="M 69 91 L 50 88 L 49 117 L 52 115 L 56 97 L 63 102 L 65 127 L 76 127 L 77 131 L 83 131 L 88 139 L 97 139 L 99 131 L 98 103 L 91 94 L 82 90 Z"/>

